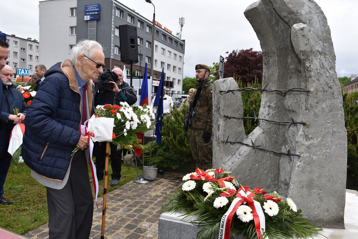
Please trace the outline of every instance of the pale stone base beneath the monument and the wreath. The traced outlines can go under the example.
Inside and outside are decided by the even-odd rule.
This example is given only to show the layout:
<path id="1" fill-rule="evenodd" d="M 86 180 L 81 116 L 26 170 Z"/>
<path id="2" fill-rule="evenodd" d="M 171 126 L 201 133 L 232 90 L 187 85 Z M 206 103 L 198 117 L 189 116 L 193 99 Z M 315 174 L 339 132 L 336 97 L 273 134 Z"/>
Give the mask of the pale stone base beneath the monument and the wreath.
<path id="1" fill-rule="evenodd" d="M 324 228 L 322 235 L 328 239 L 351 239 L 358 231 L 358 192 L 346 190 L 344 226 L 345 229 Z M 195 239 L 201 229 L 190 223 L 193 218 L 183 219 L 183 213 L 163 213 L 159 217 L 158 239 Z M 323 236 L 313 236 L 314 239 L 324 239 Z M 241 235 L 232 239 L 244 239 Z"/>

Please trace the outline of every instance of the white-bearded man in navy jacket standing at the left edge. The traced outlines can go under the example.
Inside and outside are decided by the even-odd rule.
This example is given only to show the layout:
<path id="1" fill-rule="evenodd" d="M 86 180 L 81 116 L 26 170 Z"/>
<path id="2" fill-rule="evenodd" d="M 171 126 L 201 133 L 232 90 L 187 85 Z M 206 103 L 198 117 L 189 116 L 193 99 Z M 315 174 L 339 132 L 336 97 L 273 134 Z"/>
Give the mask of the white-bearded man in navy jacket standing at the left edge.
<path id="1" fill-rule="evenodd" d="M 4 194 L 4 182 L 8 174 L 11 155 L 8 153 L 10 133 L 14 125 L 25 120 L 27 106 L 24 97 L 13 84 L 13 69 L 8 65 L 0 70 L 0 78 L 3 83 L 1 92 L 3 92 L 3 108 L 0 114 L 0 138 L 3 143 L 0 144 L 0 203 L 12 204 L 13 202 L 6 200 Z M 14 109 L 18 108 L 19 113 L 14 114 Z"/>

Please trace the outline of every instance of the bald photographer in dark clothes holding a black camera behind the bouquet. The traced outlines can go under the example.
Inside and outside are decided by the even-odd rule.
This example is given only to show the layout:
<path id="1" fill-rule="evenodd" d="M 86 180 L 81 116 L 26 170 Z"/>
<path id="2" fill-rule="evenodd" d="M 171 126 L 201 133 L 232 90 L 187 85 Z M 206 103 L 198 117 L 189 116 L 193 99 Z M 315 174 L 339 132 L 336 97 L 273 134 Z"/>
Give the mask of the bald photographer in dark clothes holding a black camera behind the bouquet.
<path id="1" fill-rule="evenodd" d="M 95 86 L 95 106 L 104 104 L 119 104 L 127 102 L 129 105 L 137 101 L 137 96 L 132 87 L 128 83 L 123 82 L 123 71 L 120 68 L 114 68 L 112 71 L 103 69 L 103 73 L 98 77 Z M 97 178 L 102 180 L 105 170 L 105 143 L 96 143 L 96 169 Z M 119 184 L 121 178 L 122 151 L 126 155 L 126 149 L 117 150 L 117 145 L 111 145 L 111 167 L 112 182 L 111 186 Z"/>

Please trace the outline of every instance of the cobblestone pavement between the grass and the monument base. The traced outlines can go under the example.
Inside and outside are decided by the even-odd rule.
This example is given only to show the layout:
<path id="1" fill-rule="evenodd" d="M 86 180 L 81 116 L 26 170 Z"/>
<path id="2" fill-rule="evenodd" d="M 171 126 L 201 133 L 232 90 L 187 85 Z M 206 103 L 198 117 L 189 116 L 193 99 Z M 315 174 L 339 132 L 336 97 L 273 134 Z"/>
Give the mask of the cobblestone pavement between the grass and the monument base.
<path id="1" fill-rule="evenodd" d="M 166 195 L 181 187 L 183 174 L 170 172 L 165 176 L 180 179 L 157 177 L 147 184 L 131 181 L 107 193 L 106 239 L 158 239 L 160 207 Z M 99 197 L 97 202 L 100 213 L 94 209 L 90 239 L 101 238 L 103 197 Z M 30 239 L 48 239 L 48 224 L 29 231 L 24 236 Z"/>

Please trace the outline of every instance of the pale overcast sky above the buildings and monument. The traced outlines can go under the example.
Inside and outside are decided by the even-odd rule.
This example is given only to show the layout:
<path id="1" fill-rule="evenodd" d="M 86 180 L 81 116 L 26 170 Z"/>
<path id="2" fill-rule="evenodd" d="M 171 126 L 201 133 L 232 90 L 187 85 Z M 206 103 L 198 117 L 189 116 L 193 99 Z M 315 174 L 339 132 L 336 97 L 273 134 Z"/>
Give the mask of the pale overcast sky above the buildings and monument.
<path id="1" fill-rule="evenodd" d="M 261 50 L 255 32 L 243 15 L 254 0 L 152 1 L 156 20 L 172 30 L 174 35 L 180 30 L 179 18 L 185 18 L 182 31 L 185 40 L 184 77 L 194 76 L 196 64 L 212 65 L 219 61 L 220 55 L 226 57 L 226 52 L 234 49 Z M 145 0 L 120 2 L 147 19 L 153 18 L 153 5 Z M 331 29 L 338 77 L 358 74 L 358 1 L 316 0 L 316 3 L 326 15 Z M 5 23 L 0 25 L 0 31 L 21 38 L 39 39 L 38 13 L 38 1 L 6 1 L 0 7 L 1 21 Z"/>

